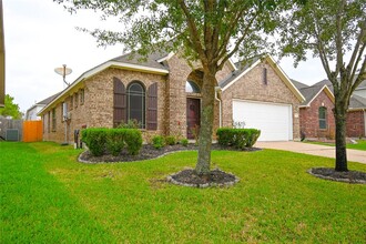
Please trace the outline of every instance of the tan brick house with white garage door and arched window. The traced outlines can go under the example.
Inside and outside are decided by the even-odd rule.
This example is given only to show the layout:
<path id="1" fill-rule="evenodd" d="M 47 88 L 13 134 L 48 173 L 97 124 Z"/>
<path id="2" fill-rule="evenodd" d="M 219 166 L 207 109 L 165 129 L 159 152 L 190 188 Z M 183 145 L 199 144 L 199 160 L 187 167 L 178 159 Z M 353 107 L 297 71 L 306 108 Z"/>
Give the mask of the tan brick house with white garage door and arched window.
<path id="1" fill-rule="evenodd" d="M 138 60 L 131 54 L 109 60 L 63 90 L 39 112 L 43 140 L 70 142 L 74 130 L 128 120 L 139 121 L 145 140 L 156 134 L 194 138 L 202 109 L 200 65 L 192 68 L 174 53 Z M 214 130 L 245 123 L 262 130 L 260 141 L 299 139 L 304 96 L 271 57 L 244 68 L 228 61 L 216 78 Z"/>

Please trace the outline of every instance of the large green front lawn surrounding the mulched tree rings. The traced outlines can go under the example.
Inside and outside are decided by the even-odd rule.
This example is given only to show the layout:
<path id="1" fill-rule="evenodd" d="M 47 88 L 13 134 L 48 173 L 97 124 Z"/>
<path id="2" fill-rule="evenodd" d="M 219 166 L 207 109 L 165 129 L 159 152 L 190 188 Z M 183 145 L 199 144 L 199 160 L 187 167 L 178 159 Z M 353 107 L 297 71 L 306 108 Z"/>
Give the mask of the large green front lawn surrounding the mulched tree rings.
<path id="1" fill-rule="evenodd" d="M 364 243 L 366 186 L 319 180 L 334 160 L 213 152 L 233 187 L 165 183 L 196 152 L 89 165 L 53 143 L 0 143 L 0 243 Z M 349 170 L 366 165 L 349 163 Z"/>

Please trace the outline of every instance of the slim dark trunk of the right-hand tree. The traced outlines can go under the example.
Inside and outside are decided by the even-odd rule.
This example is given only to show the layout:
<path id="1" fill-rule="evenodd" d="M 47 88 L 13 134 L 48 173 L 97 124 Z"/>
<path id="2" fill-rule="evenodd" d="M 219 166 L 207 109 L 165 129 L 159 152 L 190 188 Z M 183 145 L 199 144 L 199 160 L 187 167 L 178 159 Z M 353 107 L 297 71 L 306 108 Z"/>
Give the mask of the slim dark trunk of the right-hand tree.
<path id="1" fill-rule="evenodd" d="M 346 109 L 336 101 L 335 124 L 336 124 L 336 171 L 348 171 L 346 151 Z"/>

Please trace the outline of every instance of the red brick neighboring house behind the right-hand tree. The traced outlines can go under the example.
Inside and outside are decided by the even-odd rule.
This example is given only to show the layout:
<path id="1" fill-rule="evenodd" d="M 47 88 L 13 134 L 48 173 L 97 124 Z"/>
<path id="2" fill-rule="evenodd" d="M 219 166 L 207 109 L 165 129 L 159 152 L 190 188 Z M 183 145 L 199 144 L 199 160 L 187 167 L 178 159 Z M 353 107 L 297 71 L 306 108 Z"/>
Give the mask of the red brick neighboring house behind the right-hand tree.
<path id="1" fill-rule="evenodd" d="M 293 83 L 306 99 L 299 106 L 302 134 L 308 139 L 334 139 L 334 94 L 331 81 L 323 80 L 311 87 L 294 80 Z M 346 135 L 349 138 L 359 138 L 366 134 L 366 93 L 363 93 L 365 83 L 365 81 L 362 82 L 356 89 L 359 92 L 354 93 L 349 100 L 346 121 Z"/>

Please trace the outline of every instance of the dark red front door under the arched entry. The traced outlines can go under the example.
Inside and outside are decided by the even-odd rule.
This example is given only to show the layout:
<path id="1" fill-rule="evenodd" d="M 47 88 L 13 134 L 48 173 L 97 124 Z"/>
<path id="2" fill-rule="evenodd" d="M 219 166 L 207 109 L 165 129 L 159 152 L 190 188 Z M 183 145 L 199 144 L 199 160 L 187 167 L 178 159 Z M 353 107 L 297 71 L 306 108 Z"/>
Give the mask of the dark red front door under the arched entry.
<path id="1" fill-rule="evenodd" d="M 201 123 L 200 99 L 186 99 L 186 138 L 194 139 Z"/>

